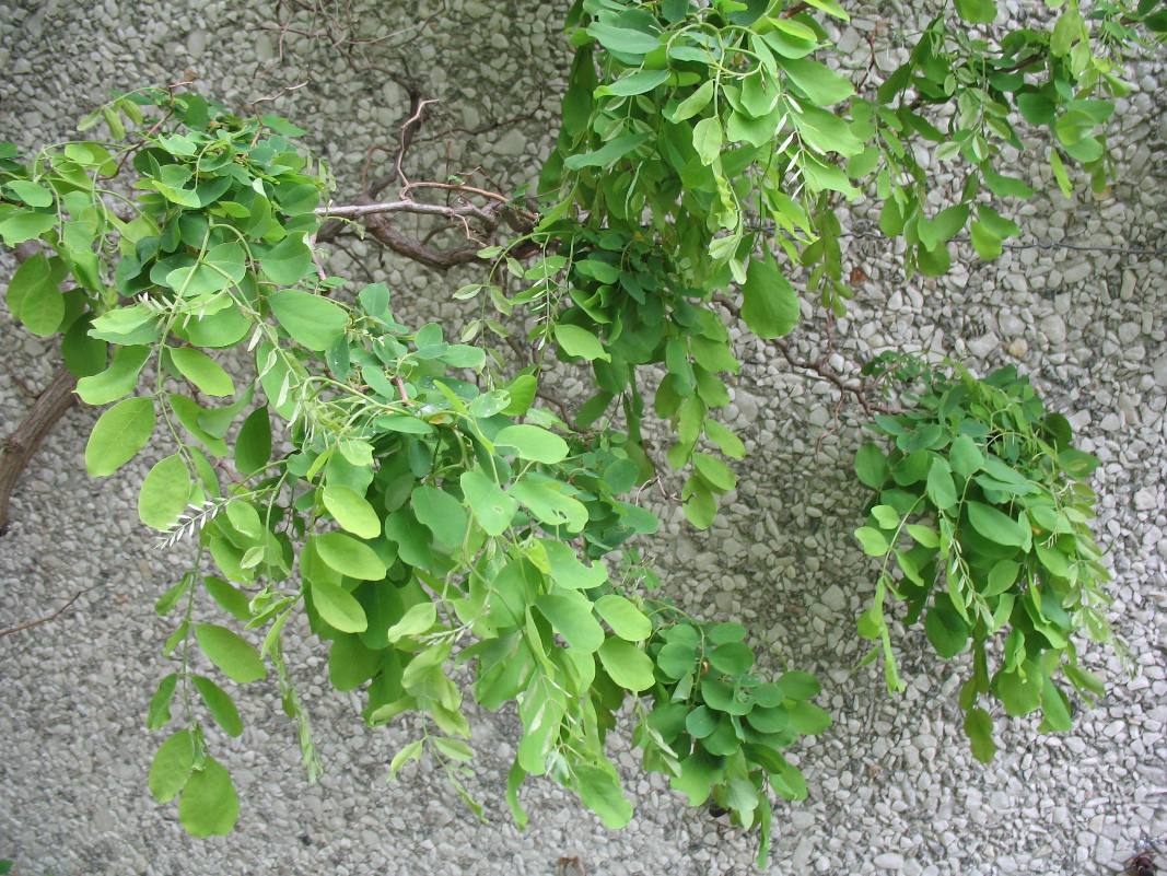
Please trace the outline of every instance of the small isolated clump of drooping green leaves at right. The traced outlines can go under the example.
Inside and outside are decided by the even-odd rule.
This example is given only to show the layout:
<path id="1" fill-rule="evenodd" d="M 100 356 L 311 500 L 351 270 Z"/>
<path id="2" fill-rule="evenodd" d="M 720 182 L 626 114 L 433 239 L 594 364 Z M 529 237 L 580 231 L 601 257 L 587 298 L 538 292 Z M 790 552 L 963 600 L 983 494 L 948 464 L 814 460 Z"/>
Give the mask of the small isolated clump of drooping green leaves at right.
<path id="1" fill-rule="evenodd" d="M 910 388 L 910 387 L 909 387 Z M 956 366 L 928 370 L 909 407 L 881 414 L 887 443 L 865 444 L 859 479 L 875 490 L 865 553 L 883 559 L 859 635 L 879 644 L 888 687 L 902 688 L 885 616 L 888 596 L 906 623 L 945 659 L 972 652 L 960 689 L 973 755 L 995 751 L 981 696 L 1009 716 L 1041 709 L 1042 730 L 1070 729 L 1070 701 L 1055 677 L 1081 694 L 1102 682 L 1078 665 L 1074 638 L 1111 642 L 1102 586 L 1110 575 L 1090 531 L 1098 461 L 1072 447 L 1070 425 L 1048 413 L 1012 367 L 979 380 Z"/>

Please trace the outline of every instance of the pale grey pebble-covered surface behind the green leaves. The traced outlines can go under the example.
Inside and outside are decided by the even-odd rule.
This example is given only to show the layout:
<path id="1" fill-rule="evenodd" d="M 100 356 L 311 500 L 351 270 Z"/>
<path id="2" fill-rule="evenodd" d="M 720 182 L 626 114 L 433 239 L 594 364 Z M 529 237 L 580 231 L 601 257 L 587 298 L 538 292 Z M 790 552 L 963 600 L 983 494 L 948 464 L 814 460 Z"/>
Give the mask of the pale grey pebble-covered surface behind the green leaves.
<path id="1" fill-rule="evenodd" d="M 489 128 L 420 143 L 419 175 L 474 163 L 501 184 L 530 175 L 547 148 L 562 80 L 564 5 L 453 0 L 396 59 L 442 98 L 428 131 Z M 310 129 L 343 194 L 365 149 L 400 124 L 404 92 L 382 73 L 355 76 L 335 52 L 295 38 L 281 64 L 278 35 L 256 29 L 272 20 L 267 5 L 84 6 L 0 5 L 0 135 L 25 148 L 67 138 L 78 107 L 111 87 L 194 75 L 208 93 L 244 103 L 307 82 L 275 106 Z M 396 28 L 429 3 L 373 6 Z M 879 20 L 872 13 L 841 35 L 844 48 L 860 47 L 859 65 L 867 63 L 862 33 Z M 885 69 L 895 63 L 886 54 L 878 61 Z M 992 265 L 964 258 L 943 280 L 906 282 L 886 243 L 850 240 L 848 265 L 869 279 L 838 327 L 841 356 L 894 342 L 981 371 L 1018 363 L 1055 406 L 1075 412 L 1083 444 L 1103 460 L 1098 527 L 1116 573 L 1112 619 L 1131 659 L 1124 667 L 1090 652 L 1109 694 L 1072 733 L 1039 736 L 1036 722 L 1014 722 L 998 759 L 981 766 L 967 754 L 955 702 L 962 661 L 928 656 L 914 630 L 900 639 L 909 688 L 899 699 L 888 698 L 876 670 L 853 668 L 861 654 L 853 618 L 873 586 L 871 562 L 847 534 L 862 499 L 847 476 L 860 440 L 854 412 L 837 413 L 832 393 L 792 376 L 773 349 L 742 343 L 747 366 L 731 412 L 752 450 L 741 490 L 711 532 L 687 530 L 673 516 L 652 549 L 675 582 L 671 595 L 710 616 L 742 619 L 769 645 L 774 667 L 823 679 L 836 726 L 796 752 L 811 799 L 780 806 L 770 873 L 1102 874 L 1116 871 L 1141 836 L 1167 834 L 1163 82 L 1161 64 L 1142 69 L 1118 113 L 1123 148 L 1110 197 L 1037 198 L 1023 208 L 1023 243 L 1053 248 L 1011 250 Z M 1053 189 L 1047 169 L 1028 174 Z M 938 197 L 944 189 L 937 185 Z M 0 276 L 9 271 L 4 262 Z M 457 313 L 448 303 L 457 276 L 393 262 L 382 273 L 406 309 Z M 0 338 L 6 433 L 30 404 L 29 387 L 47 383 L 56 353 L 6 311 Z M 824 343 L 813 320 L 799 329 L 803 355 Z M 662 782 L 643 777 L 624 737 L 613 749 L 638 814 L 621 833 L 545 782 L 523 791 L 531 827 L 512 826 L 501 803 L 517 729 L 511 713 L 475 722 L 473 791 L 489 821 L 476 821 L 428 772 L 411 768 L 386 784 L 386 764 L 411 738 L 410 727 L 364 728 L 357 699 L 328 691 L 323 661 L 307 645 L 289 657 L 323 778 L 306 784 L 274 692 L 252 686 L 240 698 L 246 730 L 222 749 L 243 797 L 238 832 L 204 842 L 186 836 L 174 807 L 154 805 L 146 791 L 159 738 L 142 724 L 169 631 L 151 604 L 187 558 L 153 551 L 137 523 L 137 484 L 152 460 L 109 482 L 85 477 L 81 455 L 93 419 L 93 411 L 74 411 L 44 443 L 15 496 L 12 531 L 0 539 L 0 626 L 92 588 L 56 622 L 0 639 L 0 859 L 14 857 L 23 876 L 554 874 L 569 856 L 592 876 L 752 870 L 753 839 L 686 810 Z"/>

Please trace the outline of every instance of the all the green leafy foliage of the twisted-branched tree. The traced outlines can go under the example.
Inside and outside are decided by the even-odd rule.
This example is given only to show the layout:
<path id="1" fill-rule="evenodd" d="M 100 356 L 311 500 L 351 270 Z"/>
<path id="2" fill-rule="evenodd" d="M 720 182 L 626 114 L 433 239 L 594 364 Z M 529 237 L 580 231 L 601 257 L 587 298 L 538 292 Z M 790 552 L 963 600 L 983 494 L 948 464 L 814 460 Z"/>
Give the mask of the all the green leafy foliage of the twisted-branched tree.
<path id="1" fill-rule="evenodd" d="M 1121 52 L 1163 15 L 1149 2 L 1095 3 L 1089 16 L 1048 6 L 1048 28 L 997 35 L 970 27 L 995 21 L 992 0 L 958 1 L 869 83 L 871 71 L 852 82 L 829 63 L 823 21 L 847 17 L 833 0 L 576 2 L 538 220 L 480 253 L 485 279 L 456 296 L 481 296 L 483 315 L 459 341 L 448 325 L 400 324 L 384 285 L 320 267 L 317 208 L 334 183 L 284 119 L 145 90 L 83 121 L 107 139 L 46 148 L 28 166 L 0 146 L 0 239 L 40 243 L 8 308 L 36 335 L 60 334 L 81 398 L 111 405 L 86 468 L 112 475 L 160 436 L 168 455 L 144 479 L 139 513 L 167 544 L 197 541 L 156 605 L 176 618 L 163 649 L 175 668 L 147 723 L 177 729 L 149 770 L 155 798 L 177 799 L 198 836 L 229 832 L 238 813 L 210 748 L 214 727 L 238 736 L 242 720 L 229 689 L 196 673 L 196 650 L 235 684 L 274 673 L 315 773 L 281 646 L 302 612 L 334 686 L 364 691 L 370 724 L 424 716 L 392 772 L 428 756 L 481 812 L 461 780 L 473 756 L 463 703 L 513 701 L 516 820 L 519 785 L 546 775 L 619 827 L 631 805 L 605 737 L 630 700 L 645 766 L 690 804 L 757 825 L 764 859 L 769 790 L 806 794 L 782 752 L 830 723 L 812 702 L 818 682 L 767 680 L 743 628 L 661 598 L 631 541 L 657 520 L 631 497 L 664 462 L 686 472 L 689 520 L 712 523 L 736 485 L 725 460 L 745 453 L 714 416 L 739 370 L 725 309 L 763 339 L 795 328 L 806 306 L 796 287 L 843 313 L 846 203 L 873 202 L 907 269 L 938 274 L 965 227 L 983 258 L 1018 233 L 1002 211 L 1032 191 L 1000 155 L 1022 126 L 1048 128 L 1067 195 L 1075 163 L 1105 187 Z M 921 148 L 967 168 L 938 212 Z M 501 272 L 519 288 L 504 292 Z M 524 321 L 539 356 L 591 370 L 595 394 L 573 423 L 534 404 L 546 362 L 515 371 L 497 353 L 508 328 L 488 307 Z M 236 349 L 247 378 L 224 367 Z M 664 461 L 641 436 L 648 366 L 664 374 L 651 399 L 672 427 Z M 1107 638 L 1089 530 L 1096 461 L 1009 371 L 872 369 L 900 407 L 875 419 L 885 443 L 855 463 L 878 493 L 855 537 L 883 560 L 860 635 L 879 643 L 892 688 L 887 596 L 909 622 L 923 616 L 942 657 L 971 647 L 960 702 L 980 759 L 995 748 L 981 696 L 1065 729 L 1054 674 L 1098 693 L 1071 637 Z M 207 604 L 225 624 L 196 621 Z"/>

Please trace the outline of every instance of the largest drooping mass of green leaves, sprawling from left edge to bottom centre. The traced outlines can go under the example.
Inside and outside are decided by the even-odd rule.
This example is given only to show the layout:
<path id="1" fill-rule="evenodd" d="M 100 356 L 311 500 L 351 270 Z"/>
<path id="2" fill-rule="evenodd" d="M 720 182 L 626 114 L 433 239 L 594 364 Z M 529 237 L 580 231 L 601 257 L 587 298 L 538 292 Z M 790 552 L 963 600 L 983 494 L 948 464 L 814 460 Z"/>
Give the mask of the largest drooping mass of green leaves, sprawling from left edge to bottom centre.
<path id="1" fill-rule="evenodd" d="M 637 483 L 627 435 L 571 434 L 531 406 L 530 376 L 497 371 L 481 349 L 447 342 L 438 324 L 406 329 L 384 286 L 345 294 L 343 280 L 321 278 L 308 241 L 328 175 L 280 133 L 286 122 L 242 119 L 195 96 L 162 92 L 113 104 L 130 106 L 149 128 L 140 141 L 120 149 L 74 143 L 37 157 L 42 171 L 28 176 L 51 196 L 44 209 L 54 226 L 40 233 L 54 254 L 26 264 L 9 300 L 30 328 L 64 331 L 68 343 L 76 323 L 113 348 L 112 360 L 104 362 L 103 348 L 78 384 L 84 400 L 113 402 L 86 447 L 92 475 L 133 460 L 159 423 L 176 447 L 139 496 L 144 523 L 172 542 L 197 534 L 200 548 L 191 572 L 156 605 L 179 616 L 163 649 L 176 667 L 160 682 L 147 723 L 177 721 L 179 729 L 151 768 L 155 798 L 177 799 L 180 820 L 196 836 L 228 833 L 238 815 L 208 736 L 216 726 L 239 736 L 243 721 L 231 687 L 196 671 L 195 649 L 236 685 L 274 670 L 285 709 L 300 723 L 309 775 L 315 770 L 280 646 L 292 614 L 303 611 L 327 643 L 334 686 L 364 689 L 370 724 L 404 713 L 424 717 L 420 738 L 391 772 L 428 756 L 466 797 L 466 693 L 491 710 L 517 702 L 523 738 L 509 794 L 516 817 L 525 819 L 516 796 L 523 778 L 547 775 L 620 826 L 631 805 L 605 737 L 631 694 L 649 769 L 680 782 L 691 798 L 713 796 L 746 826 L 761 819 L 768 831 L 768 783 L 782 793 L 803 787 L 777 752 L 825 724 L 743 723 L 764 687 L 747 673 L 754 660 L 740 643 L 745 630 L 734 628 L 731 649 L 721 628 L 706 635 L 678 626 L 668 603 L 645 601 L 641 582 L 655 580 L 647 569 L 626 559 L 616 574 L 606 562 L 657 527 L 621 498 Z M 147 114 L 155 112 L 156 120 Z M 103 187 L 131 168 L 140 194 L 121 204 L 137 210 L 127 220 L 106 208 Z M 97 253 L 112 255 L 107 273 L 99 267 L 68 308 L 32 306 L 29 296 L 65 297 L 57 285 L 67 274 L 83 282 Z M 58 311 L 68 316 L 51 325 L 39 316 Z M 571 329 L 560 327 L 565 349 L 591 352 Z M 217 351 L 244 345 L 254 377 L 239 386 Z M 155 374 L 144 380 L 151 363 Z M 292 447 L 274 457 L 273 414 Z M 232 450 L 225 437 L 240 419 Z M 224 483 L 230 460 L 235 477 Z M 718 483 L 732 481 L 717 461 L 707 471 Z M 208 561 L 216 575 L 204 570 Z M 196 621 L 203 595 L 242 630 Z M 683 639 L 690 665 L 679 674 L 659 670 L 655 658 L 665 644 Z M 706 663 L 707 643 L 722 644 Z M 471 667 L 468 691 L 452 678 L 459 664 Z M 770 688 L 760 700 L 768 714 L 811 708 L 805 689 Z M 710 699 L 711 689 L 721 699 Z M 696 709 L 725 713 L 717 743 L 685 730 L 684 715 Z M 665 714 L 680 715 L 680 724 Z M 764 818 L 756 814 L 763 806 Z"/>

